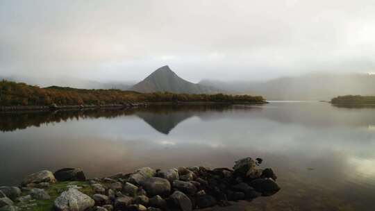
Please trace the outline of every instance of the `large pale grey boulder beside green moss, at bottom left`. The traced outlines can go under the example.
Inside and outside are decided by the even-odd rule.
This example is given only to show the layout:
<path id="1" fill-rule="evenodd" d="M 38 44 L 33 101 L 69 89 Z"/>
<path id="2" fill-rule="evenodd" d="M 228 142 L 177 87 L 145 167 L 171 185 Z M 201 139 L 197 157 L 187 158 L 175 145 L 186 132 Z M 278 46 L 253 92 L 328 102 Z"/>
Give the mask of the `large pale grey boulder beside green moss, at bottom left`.
<path id="1" fill-rule="evenodd" d="M 90 196 L 83 194 L 78 189 L 69 188 L 54 201 L 56 211 L 83 211 L 92 208 L 95 201 Z"/>

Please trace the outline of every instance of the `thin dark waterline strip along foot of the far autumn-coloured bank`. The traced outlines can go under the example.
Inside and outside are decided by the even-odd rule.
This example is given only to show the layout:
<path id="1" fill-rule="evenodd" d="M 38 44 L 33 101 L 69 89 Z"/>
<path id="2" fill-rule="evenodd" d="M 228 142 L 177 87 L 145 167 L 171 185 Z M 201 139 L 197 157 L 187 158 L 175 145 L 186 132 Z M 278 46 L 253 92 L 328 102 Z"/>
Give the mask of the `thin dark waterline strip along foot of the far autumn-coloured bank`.
<path id="1" fill-rule="evenodd" d="M 140 108 L 149 105 L 263 105 L 263 102 L 215 102 L 215 101 L 160 101 L 160 102 L 142 102 L 142 103 L 124 103 L 124 104 L 106 104 L 106 105 L 8 105 L 0 106 L 0 112 L 17 111 L 56 111 L 56 110 L 88 110 L 98 108 Z"/>

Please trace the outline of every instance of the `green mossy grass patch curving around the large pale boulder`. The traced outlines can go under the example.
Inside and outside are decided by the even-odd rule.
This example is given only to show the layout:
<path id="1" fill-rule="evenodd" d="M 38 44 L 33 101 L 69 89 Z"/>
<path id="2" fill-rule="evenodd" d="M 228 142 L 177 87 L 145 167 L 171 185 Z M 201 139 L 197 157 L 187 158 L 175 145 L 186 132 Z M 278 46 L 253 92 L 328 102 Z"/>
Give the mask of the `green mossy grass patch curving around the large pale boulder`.
<path id="1" fill-rule="evenodd" d="M 78 189 L 83 194 L 87 194 L 88 196 L 94 195 L 94 190 L 92 189 L 91 185 L 88 182 L 58 182 L 51 184 L 49 187 L 47 187 L 45 190 L 49 193 L 49 196 L 51 196 L 51 199 L 49 200 L 36 200 L 32 203 L 36 203 L 37 205 L 32 207 L 31 210 L 33 211 L 44 211 L 44 210 L 53 210 L 53 202 L 55 199 L 60 196 L 60 194 L 67 189 L 69 189 L 68 185 L 77 185 L 82 187 L 81 189 Z M 27 192 L 24 192 L 24 194 L 28 194 Z"/>

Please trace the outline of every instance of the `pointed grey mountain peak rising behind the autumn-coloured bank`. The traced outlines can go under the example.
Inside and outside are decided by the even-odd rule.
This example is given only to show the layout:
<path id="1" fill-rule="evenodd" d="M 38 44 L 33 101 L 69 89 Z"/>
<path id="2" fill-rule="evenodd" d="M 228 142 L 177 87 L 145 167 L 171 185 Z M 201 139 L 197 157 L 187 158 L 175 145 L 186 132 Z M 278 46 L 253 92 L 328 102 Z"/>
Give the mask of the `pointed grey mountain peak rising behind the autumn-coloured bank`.
<path id="1" fill-rule="evenodd" d="M 180 78 L 167 65 L 156 69 L 152 74 L 137 83 L 130 90 L 136 92 L 173 92 L 186 94 L 214 94 L 220 91 L 214 87 L 191 83 Z"/>

